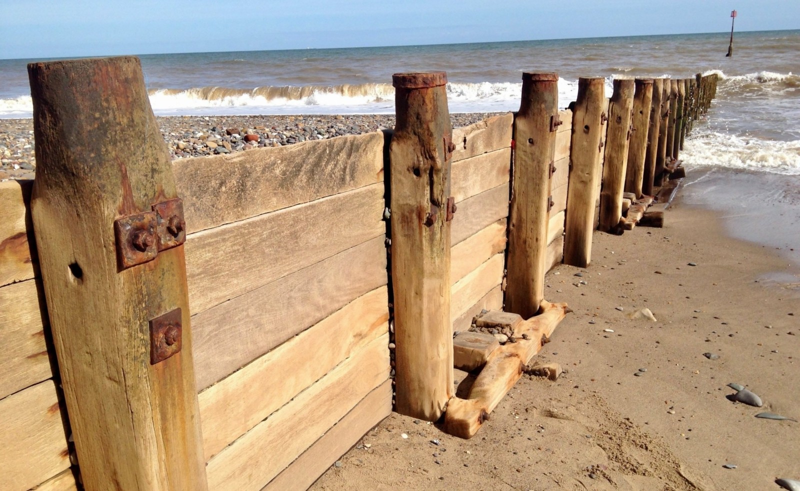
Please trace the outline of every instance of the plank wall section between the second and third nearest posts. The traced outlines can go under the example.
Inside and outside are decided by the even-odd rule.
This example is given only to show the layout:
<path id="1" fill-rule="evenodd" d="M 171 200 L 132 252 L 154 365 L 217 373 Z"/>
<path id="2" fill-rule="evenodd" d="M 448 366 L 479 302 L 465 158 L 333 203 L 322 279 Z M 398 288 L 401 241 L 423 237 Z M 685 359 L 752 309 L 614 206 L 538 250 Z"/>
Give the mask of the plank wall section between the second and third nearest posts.
<path id="1" fill-rule="evenodd" d="M 502 309 L 514 115 L 453 130 L 450 317 L 470 328 L 483 308 Z"/>

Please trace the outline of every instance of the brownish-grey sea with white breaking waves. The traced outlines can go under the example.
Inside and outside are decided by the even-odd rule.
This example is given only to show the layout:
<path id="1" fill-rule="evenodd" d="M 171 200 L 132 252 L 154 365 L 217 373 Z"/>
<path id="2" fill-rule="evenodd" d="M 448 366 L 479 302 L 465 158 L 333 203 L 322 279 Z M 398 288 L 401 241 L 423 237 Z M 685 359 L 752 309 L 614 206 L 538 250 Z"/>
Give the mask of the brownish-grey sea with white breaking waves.
<path id="1" fill-rule="evenodd" d="M 410 71 L 446 71 L 451 113 L 518 110 L 523 71 L 557 72 L 561 107 L 582 76 L 605 77 L 610 96 L 614 77 L 715 73 L 717 99 L 681 154 L 697 170 L 687 199 L 728 211 L 790 206 L 781 223 L 800 236 L 800 30 L 737 32 L 730 58 L 729 40 L 723 32 L 140 58 L 157 115 L 393 113 L 392 74 Z M 31 61 L 0 60 L 0 118 L 31 117 Z M 720 179 L 742 192 L 714 191 Z"/>

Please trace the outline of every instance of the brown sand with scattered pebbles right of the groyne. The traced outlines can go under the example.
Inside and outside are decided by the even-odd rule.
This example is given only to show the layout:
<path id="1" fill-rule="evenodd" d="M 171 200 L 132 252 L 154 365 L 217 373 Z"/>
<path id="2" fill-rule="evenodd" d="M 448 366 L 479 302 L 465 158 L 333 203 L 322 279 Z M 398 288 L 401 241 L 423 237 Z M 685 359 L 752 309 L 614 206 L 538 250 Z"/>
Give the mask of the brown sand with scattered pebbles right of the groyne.
<path id="1" fill-rule="evenodd" d="M 311 489 L 750 490 L 800 478 L 800 423 L 754 417 L 800 420 L 798 269 L 731 239 L 725 211 L 686 201 L 664 228 L 596 232 L 590 268 L 548 273 L 546 298 L 574 309 L 534 359 L 568 368 L 558 381 L 523 376 L 470 441 L 393 414 Z M 797 231 L 784 242 L 800 246 Z M 639 308 L 658 320 L 628 319 Z M 729 382 L 764 407 L 727 400 Z"/>

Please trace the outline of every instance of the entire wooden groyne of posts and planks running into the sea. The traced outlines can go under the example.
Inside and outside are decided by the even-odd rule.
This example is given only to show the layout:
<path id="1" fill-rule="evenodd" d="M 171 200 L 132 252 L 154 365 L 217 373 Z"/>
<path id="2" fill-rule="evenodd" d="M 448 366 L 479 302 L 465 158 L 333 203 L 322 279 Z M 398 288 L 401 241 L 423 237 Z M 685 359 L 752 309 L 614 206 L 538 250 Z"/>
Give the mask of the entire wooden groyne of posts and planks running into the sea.
<path id="1" fill-rule="evenodd" d="M 21 491 L 306 489 L 392 410 L 471 437 L 567 315 L 544 273 L 588 266 L 601 216 L 663 223 L 715 87 L 586 79 L 558 111 L 558 76 L 525 74 L 518 114 L 452 130 L 446 75 L 399 74 L 394 134 L 170 163 L 137 58 L 29 70 L 37 177 L 0 184 L 0 488 Z M 662 87 L 649 119 L 640 86 Z M 454 332 L 504 304 L 511 339 L 455 398 Z"/>

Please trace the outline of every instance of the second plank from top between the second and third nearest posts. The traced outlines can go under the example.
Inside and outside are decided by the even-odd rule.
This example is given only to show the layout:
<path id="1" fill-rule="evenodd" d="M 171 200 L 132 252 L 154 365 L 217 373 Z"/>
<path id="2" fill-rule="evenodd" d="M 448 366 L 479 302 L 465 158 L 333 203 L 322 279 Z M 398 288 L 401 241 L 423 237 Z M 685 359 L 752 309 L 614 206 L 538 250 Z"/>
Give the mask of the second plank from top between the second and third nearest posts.
<path id="1" fill-rule="evenodd" d="M 511 172 L 511 147 L 459 160 L 450 172 L 450 194 L 458 203 L 507 183 Z"/>

